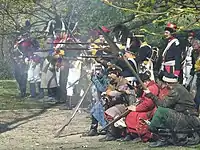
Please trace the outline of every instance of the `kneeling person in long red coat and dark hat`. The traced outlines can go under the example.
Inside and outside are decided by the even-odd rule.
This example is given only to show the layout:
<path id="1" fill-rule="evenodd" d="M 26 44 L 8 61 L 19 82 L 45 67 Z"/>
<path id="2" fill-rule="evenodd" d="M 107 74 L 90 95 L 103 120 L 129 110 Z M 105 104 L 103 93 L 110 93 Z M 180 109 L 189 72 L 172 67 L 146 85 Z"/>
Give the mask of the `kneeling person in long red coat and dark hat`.
<path id="1" fill-rule="evenodd" d="M 142 75 L 141 79 L 152 94 L 159 94 L 157 84 L 150 80 L 150 73 L 146 72 Z M 131 105 L 128 109 L 132 112 L 125 119 L 128 134 L 124 140 L 134 139 L 135 142 L 141 140 L 147 142 L 152 138 L 152 133 L 148 130 L 148 126 L 144 123 L 144 120 L 150 120 L 153 117 L 156 111 L 155 104 L 151 99 L 145 97 L 145 93 L 143 92 L 142 96 L 138 98 L 138 104 Z"/>

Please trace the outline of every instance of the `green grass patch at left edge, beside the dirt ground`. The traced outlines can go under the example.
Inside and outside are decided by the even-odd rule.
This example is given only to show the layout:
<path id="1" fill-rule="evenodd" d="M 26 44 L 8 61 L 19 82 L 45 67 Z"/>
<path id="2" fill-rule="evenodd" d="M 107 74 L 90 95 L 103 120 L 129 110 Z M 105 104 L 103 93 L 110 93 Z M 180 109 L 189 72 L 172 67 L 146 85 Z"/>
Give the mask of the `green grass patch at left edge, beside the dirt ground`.
<path id="1" fill-rule="evenodd" d="M 36 100 L 18 98 L 18 86 L 14 80 L 0 80 L 0 110 L 40 109 L 47 106 Z"/>

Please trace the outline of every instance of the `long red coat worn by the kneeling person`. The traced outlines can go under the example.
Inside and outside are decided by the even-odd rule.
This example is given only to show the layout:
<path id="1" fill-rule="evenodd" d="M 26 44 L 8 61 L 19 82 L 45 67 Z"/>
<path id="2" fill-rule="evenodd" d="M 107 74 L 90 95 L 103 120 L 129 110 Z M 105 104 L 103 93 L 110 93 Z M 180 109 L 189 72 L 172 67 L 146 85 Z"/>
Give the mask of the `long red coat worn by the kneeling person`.
<path id="1" fill-rule="evenodd" d="M 151 81 L 147 87 L 151 93 L 155 95 L 159 94 L 159 88 L 154 81 Z M 136 111 L 130 112 L 125 119 L 127 131 L 129 133 L 138 134 L 144 142 L 148 141 L 152 137 L 152 133 L 148 130 L 148 126 L 144 124 L 141 119 L 150 120 L 155 111 L 155 104 L 151 99 L 145 97 L 145 93 L 143 93 L 140 98 L 140 103 L 136 107 Z"/>

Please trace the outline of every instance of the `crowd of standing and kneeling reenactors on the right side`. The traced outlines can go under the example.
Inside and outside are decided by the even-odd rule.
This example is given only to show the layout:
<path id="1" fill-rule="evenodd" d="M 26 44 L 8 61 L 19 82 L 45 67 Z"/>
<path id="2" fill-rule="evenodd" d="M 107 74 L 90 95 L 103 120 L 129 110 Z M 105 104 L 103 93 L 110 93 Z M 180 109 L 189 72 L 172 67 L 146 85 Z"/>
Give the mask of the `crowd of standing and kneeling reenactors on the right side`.
<path id="1" fill-rule="evenodd" d="M 120 50 L 117 56 L 112 55 L 112 47 L 104 38 L 111 31 L 102 27 L 105 35 L 97 32 L 102 45 L 92 45 L 97 63 L 91 75 L 96 103 L 91 110 L 90 131 L 85 135 L 105 134 L 100 141 L 151 142 L 151 147 L 200 142 L 200 42 L 189 31 L 182 49 L 176 29 L 175 24 L 166 25 L 167 44 L 162 52 L 147 44 L 141 35 L 129 34 L 122 42 L 121 30 L 115 33 L 119 37 L 113 38 Z M 101 132 L 98 124 L 103 128 Z"/>

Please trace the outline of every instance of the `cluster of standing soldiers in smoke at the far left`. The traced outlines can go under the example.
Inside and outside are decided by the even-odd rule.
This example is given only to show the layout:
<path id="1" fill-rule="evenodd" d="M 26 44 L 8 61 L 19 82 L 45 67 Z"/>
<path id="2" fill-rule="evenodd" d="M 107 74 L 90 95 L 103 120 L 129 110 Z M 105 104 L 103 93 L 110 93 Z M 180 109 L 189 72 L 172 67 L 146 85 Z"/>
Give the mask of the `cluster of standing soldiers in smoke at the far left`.
<path id="1" fill-rule="evenodd" d="M 51 23 L 51 21 L 50 21 Z M 31 99 L 44 98 L 44 89 L 48 89 L 48 98 L 56 98 L 57 88 L 64 50 L 61 50 L 58 40 L 61 40 L 61 30 L 55 29 L 54 34 L 49 34 L 52 24 L 48 23 L 44 37 L 46 51 L 41 50 L 38 39 L 31 36 L 30 26 L 26 24 L 19 32 L 12 50 L 14 77 L 20 89 L 20 97 L 27 97 L 27 82 L 30 88 Z M 27 29 L 28 28 L 28 29 Z M 64 36 L 64 35 L 62 35 Z M 66 37 L 62 38 L 66 39 Z M 54 44 L 55 43 L 55 44 Z"/>

